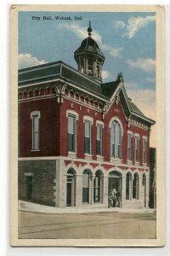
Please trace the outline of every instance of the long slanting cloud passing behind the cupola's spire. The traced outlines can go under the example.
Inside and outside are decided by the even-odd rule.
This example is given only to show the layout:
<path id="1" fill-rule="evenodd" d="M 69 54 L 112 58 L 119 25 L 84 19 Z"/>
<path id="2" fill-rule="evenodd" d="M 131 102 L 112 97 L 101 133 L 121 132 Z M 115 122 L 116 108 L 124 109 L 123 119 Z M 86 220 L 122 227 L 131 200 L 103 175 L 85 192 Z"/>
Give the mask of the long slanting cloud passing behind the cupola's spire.
<path id="1" fill-rule="evenodd" d="M 77 38 L 84 39 L 87 38 L 88 32 L 86 27 L 79 26 L 75 23 L 63 23 L 57 26 L 59 29 L 65 29 L 67 31 L 74 32 Z M 112 57 L 114 58 L 121 58 L 122 57 L 122 48 L 121 47 L 112 47 L 108 44 L 104 44 L 102 40 L 102 36 L 99 32 L 93 30 L 92 38 L 99 44 L 99 48 L 103 51 L 107 51 Z"/>

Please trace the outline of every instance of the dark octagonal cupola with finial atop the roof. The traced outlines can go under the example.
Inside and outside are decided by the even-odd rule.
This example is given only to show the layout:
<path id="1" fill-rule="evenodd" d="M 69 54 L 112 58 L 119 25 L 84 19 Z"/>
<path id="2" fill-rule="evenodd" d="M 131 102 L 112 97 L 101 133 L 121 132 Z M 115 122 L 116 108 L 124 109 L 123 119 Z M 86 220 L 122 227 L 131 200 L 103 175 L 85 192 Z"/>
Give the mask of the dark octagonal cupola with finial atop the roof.
<path id="1" fill-rule="evenodd" d="M 88 38 L 82 41 L 81 46 L 74 53 L 78 70 L 98 82 L 102 82 L 101 70 L 105 56 L 98 44 L 92 38 L 91 22 L 89 21 Z"/>

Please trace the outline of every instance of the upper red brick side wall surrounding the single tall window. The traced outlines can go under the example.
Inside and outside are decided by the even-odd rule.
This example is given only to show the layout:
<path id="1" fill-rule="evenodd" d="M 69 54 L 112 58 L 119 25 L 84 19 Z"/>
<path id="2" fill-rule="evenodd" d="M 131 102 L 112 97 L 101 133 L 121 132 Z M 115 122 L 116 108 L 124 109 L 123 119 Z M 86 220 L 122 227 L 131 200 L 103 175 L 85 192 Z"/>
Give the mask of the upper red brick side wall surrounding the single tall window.
<path id="1" fill-rule="evenodd" d="M 32 151 L 31 112 L 39 111 L 39 151 Z M 19 157 L 59 155 L 59 105 L 56 98 L 19 104 Z"/>

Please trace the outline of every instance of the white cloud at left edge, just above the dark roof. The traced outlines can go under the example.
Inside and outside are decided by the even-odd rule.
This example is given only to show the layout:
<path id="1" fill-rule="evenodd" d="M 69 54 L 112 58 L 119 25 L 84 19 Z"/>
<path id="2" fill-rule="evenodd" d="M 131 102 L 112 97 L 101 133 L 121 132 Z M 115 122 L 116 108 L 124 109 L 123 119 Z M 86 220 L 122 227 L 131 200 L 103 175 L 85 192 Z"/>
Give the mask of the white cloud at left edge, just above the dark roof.
<path id="1" fill-rule="evenodd" d="M 25 67 L 32 67 L 32 66 L 37 66 L 41 64 L 47 63 L 46 61 L 39 61 L 37 57 L 32 56 L 31 54 L 20 54 L 18 56 L 18 64 L 19 64 L 19 69 L 20 68 L 25 68 Z"/>

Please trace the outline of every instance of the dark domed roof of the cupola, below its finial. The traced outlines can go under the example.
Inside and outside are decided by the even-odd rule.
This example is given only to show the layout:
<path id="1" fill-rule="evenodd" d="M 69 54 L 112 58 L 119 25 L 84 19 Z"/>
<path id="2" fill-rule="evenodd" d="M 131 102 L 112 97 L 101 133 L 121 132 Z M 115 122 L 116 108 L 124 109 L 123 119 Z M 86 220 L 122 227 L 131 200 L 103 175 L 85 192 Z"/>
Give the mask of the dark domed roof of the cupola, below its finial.
<path id="1" fill-rule="evenodd" d="M 74 54 L 77 55 L 84 52 L 94 53 L 100 55 L 103 59 L 105 59 L 105 56 L 100 51 L 98 44 L 94 41 L 93 38 L 91 38 L 91 36 L 82 41 L 81 46 L 75 51 Z"/>

